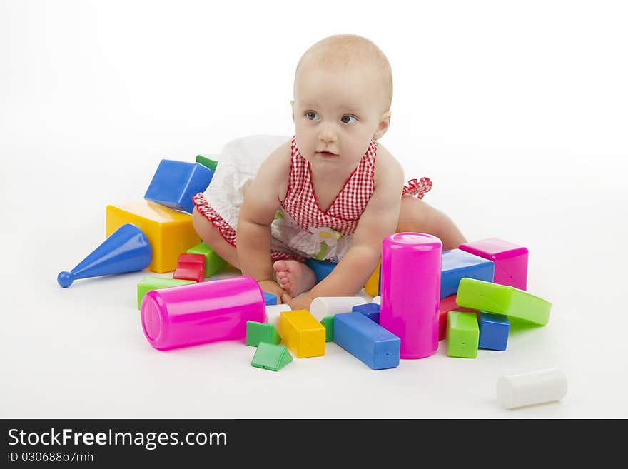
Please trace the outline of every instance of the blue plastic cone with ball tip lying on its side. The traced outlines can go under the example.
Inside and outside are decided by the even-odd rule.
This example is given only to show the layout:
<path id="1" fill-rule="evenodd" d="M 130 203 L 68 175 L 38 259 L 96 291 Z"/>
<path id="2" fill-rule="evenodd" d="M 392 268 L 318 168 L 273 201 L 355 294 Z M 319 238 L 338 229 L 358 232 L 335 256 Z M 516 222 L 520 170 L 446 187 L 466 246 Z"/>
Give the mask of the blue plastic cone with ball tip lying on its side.
<path id="1" fill-rule="evenodd" d="M 146 235 L 135 225 L 126 223 L 81 261 L 71 272 L 61 272 L 56 281 L 64 288 L 77 278 L 88 278 L 141 271 L 151 263 L 153 253 Z"/>

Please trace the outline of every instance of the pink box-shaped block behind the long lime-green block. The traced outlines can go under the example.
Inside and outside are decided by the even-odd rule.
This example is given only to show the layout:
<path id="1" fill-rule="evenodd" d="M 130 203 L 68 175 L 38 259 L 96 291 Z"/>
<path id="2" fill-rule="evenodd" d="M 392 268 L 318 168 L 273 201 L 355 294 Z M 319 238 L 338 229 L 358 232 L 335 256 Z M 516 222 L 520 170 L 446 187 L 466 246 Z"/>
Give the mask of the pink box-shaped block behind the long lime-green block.
<path id="1" fill-rule="evenodd" d="M 493 261 L 495 263 L 494 283 L 527 290 L 527 248 L 500 238 L 481 239 L 461 244 L 459 248 Z"/>

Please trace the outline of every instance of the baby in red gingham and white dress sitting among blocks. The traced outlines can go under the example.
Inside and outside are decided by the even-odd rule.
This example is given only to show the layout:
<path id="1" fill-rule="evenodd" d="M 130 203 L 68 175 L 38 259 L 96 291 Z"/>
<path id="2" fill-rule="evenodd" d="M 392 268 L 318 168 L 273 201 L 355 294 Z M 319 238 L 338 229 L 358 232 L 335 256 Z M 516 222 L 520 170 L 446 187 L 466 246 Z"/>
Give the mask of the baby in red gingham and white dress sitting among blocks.
<path id="1" fill-rule="evenodd" d="M 373 42 L 338 35 L 314 44 L 295 71 L 293 138 L 228 143 L 193 199 L 199 236 L 293 309 L 358 293 L 395 232 L 430 233 L 444 250 L 465 243 L 421 200 L 431 181 L 405 185 L 400 163 L 378 143 L 392 98 L 390 64 Z M 306 258 L 338 265 L 317 284 Z"/>

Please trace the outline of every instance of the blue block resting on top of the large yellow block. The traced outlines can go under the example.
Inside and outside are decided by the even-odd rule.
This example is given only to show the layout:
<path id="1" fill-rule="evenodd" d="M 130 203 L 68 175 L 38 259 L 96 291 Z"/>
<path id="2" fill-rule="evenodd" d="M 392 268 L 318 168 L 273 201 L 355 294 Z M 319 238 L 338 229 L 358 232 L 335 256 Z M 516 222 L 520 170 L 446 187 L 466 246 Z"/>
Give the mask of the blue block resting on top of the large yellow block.
<path id="1" fill-rule="evenodd" d="M 200 163 L 161 160 L 144 198 L 192 213 L 192 197 L 204 192 L 212 177 L 213 171 Z"/>

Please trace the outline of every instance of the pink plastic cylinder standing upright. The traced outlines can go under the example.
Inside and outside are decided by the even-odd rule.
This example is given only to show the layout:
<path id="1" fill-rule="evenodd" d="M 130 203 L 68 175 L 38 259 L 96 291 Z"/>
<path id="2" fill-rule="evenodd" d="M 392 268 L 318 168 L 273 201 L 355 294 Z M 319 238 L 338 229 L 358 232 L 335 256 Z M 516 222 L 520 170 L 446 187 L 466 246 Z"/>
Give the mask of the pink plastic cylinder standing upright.
<path id="1" fill-rule="evenodd" d="M 382 246 L 380 326 L 401 339 L 400 358 L 438 348 L 442 242 L 423 233 L 395 233 Z"/>

